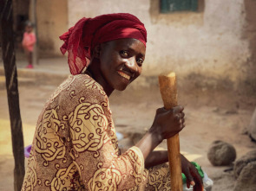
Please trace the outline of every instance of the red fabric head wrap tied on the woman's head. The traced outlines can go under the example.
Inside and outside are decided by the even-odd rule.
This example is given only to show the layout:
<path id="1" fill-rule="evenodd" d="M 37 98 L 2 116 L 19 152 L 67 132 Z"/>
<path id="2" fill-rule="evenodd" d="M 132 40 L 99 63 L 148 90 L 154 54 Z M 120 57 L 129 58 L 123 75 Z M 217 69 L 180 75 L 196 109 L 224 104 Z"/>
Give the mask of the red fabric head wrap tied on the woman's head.
<path id="1" fill-rule="evenodd" d="M 69 52 L 70 73 L 75 75 L 81 73 L 84 67 L 88 67 L 86 58 L 90 60 L 90 51 L 96 45 L 123 38 L 135 38 L 146 47 L 147 31 L 136 16 L 116 13 L 82 18 L 60 36 L 64 41 L 61 47 L 62 54 L 67 50 Z"/>

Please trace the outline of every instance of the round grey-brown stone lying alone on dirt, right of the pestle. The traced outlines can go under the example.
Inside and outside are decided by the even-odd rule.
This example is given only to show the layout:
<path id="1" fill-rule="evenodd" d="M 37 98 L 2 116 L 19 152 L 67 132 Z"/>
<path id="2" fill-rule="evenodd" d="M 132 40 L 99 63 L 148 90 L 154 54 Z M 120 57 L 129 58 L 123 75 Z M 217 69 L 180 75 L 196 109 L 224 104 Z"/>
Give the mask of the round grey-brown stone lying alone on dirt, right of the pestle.
<path id="1" fill-rule="evenodd" d="M 213 166 L 226 166 L 235 160 L 236 151 L 233 145 L 218 140 L 211 144 L 207 157 Z"/>

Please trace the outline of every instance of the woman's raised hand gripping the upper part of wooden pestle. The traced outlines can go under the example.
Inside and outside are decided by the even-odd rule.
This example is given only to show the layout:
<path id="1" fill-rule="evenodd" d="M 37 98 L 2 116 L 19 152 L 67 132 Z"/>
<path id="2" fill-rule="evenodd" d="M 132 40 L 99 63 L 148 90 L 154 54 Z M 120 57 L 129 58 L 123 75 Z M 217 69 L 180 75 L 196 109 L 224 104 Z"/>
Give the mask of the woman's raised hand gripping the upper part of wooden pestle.
<path id="1" fill-rule="evenodd" d="M 159 108 L 149 131 L 156 133 L 161 141 L 173 137 L 185 127 L 183 110 L 183 106 L 175 106 L 171 110 Z"/>

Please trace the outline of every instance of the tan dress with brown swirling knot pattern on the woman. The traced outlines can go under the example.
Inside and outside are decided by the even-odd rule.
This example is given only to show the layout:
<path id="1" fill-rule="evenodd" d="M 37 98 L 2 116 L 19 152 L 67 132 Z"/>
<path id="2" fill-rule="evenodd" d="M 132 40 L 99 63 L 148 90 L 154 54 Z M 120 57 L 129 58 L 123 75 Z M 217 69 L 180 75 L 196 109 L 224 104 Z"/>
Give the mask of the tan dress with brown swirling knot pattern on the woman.
<path id="1" fill-rule="evenodd" d="M 40 114 L 22 190 L 170 190 L 167 165 L 119 153 L 108 96 L 87 74 L 69 76 Z"/>

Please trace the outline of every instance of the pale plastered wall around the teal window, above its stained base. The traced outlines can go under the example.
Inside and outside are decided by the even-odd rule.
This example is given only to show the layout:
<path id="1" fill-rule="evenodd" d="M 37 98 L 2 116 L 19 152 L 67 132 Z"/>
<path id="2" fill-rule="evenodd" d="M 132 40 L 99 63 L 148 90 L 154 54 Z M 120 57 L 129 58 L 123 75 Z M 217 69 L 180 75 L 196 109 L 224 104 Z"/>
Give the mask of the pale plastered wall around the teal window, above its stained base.
<path id="1" fill-rule="evenodd" d="M 161 14 L 158 0 L 69 0 L 69 27 L 82 16 L 132 13 L 148 29 L 144 75 L 174 70 L 187 83 L 196 79 L 208 88 L 238 88 L 252 56 L 244 0 L 200 2 L 199 12 Z"/>

